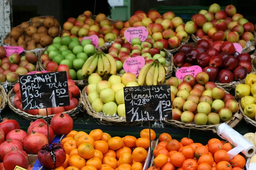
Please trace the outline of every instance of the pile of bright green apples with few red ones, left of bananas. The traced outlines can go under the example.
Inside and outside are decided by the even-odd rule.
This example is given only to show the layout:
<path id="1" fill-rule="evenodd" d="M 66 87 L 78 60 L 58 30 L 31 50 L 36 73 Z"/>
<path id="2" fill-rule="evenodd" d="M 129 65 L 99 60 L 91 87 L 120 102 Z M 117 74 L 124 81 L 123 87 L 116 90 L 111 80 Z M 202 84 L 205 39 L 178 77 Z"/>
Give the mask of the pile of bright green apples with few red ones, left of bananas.
<path id="1" fill-rule="evenodd" d="M 55 37 L 53 44 L 47 47 L 47 51 L 40 59 L 47 71 L 57 71 L 58 65 L 67 65 L 71 78 L 82 80 L 81 68 L 88 57 L 95 54 L 96 49 L 88 39 L 81 44 L 77 37 Z"/>

